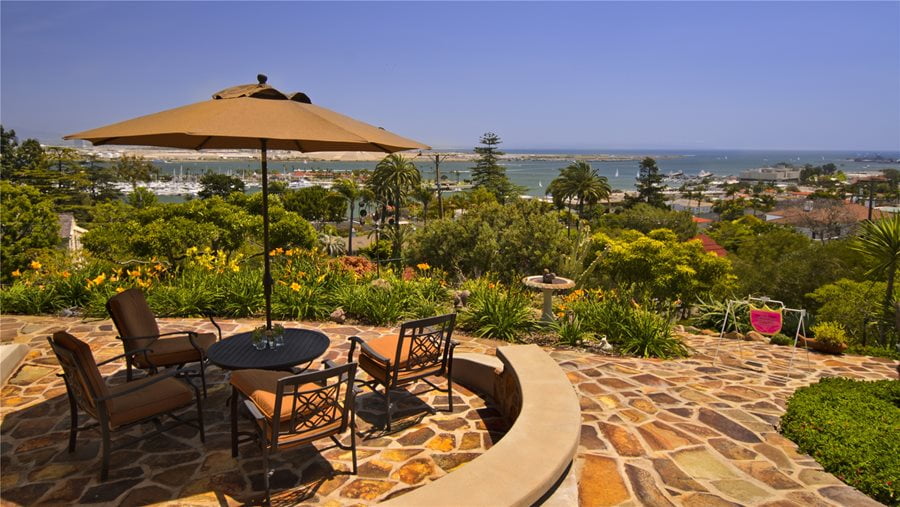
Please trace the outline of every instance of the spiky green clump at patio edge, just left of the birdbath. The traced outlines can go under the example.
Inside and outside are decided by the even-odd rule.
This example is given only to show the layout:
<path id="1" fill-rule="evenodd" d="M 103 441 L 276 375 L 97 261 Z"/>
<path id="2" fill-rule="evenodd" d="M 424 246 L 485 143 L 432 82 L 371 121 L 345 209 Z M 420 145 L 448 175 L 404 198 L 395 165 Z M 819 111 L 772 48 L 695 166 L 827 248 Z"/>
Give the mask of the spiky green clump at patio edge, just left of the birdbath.
<path id="1" fill-rule="evenodd" d="M 470 285 L 472 295 L 462 312 L 462 327 L 483 338 L 516 341 L 534 327 L 528 294 L 500 283 Z"/>

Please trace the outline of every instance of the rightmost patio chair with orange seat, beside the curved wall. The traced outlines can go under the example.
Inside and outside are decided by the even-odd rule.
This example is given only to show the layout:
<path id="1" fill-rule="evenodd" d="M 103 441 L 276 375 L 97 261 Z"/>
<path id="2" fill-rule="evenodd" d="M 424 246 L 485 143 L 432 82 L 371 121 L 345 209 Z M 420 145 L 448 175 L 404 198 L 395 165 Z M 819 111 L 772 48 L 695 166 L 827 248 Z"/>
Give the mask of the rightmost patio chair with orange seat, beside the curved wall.
<path id="1" fill-rule="evenodd" d="M 356 346 L 359 345 L 359 367 L 372 377 L 360 381 L 373 392 L 384 398 L 387 407 L 385 429 L 391 429 L 393 405 L 391 390 L 423 381 L 433 389 L 447 393 L 449 411 L 453 412 L 453 349 L 456 342 L 451 339 L 456 314 L 404 322 L 398 336 L 383 336 L 364 341 L 358 336 L 350 337 L 349 361 L 353 361 Z M 441 389 L 428 381 L 427 377 L 447 378 L 447 389 Z M 376 389 L 382 386 L 383 392 Z"/>

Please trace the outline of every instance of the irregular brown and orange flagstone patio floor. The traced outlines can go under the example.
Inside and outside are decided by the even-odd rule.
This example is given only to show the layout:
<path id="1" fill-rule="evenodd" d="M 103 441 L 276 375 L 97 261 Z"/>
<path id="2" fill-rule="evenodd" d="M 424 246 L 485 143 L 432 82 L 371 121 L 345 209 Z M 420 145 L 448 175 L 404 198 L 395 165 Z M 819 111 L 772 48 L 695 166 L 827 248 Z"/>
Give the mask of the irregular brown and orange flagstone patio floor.
<path id="1" fill-rule="evenodd" d="M 212 329 L 198 319 L 164 319 L 164 331 Z M 251 329 L 256 321 L 224 321 L 223 332 Z M 332 339 L 323 358 L 346 358 L 346 338 L 393 330 L 297 323 L 322 329 Z M 32 350 L 0 397 L 0 503 L 3 505 L 164 502 L 213 505 L 254 502 L 261 489 L 261 460 L 252 444 L 233 459 L 225 399 L 225 374 L 212 379 L 204 405 L 207 442 L 181 428 L 112 454 L 112 473 L 99 483 L 98 432 L 79 434 L 78 450 L 66 452 L 68 404 L 46 336 L 67 329 L 87 339 L 98 361 L 121 353 L 110 321 L 57 317 L 0 317 L 0 342 Z M 503 345 L 456 336 L 458 351 L 493 353 Z M 687 359 L 660 361 L 547 349 L 581 401 L 578 457 L 554 505 L 878 505 L 822 471 L 776 428 L 788 397 L 825 376 L 896 379 L 895 361 L 828 356 L 768 344 L 723 342 L 686 335 Z M 123 378 L 122 366 L 104 375 Z M 507 426 L 477 393 L 455 391 L 453 414 L 446 396 L 402 399 L 402 422 L 391 434 L 378 429 L 381 405 L 359 400 L 359 475 L 348 470 L 349 453 L 306 447 L 273 460 L 273 504 L 365 505 L 426 484 L 485 452 Z M 436 414 L 424 409 L 433 406 Z M 249 424 L 244 422 L 244 424 Z M 139 434 L 140 429 L 131 430 Z M 498 505 L 502 499 L 498 499 Z"/>

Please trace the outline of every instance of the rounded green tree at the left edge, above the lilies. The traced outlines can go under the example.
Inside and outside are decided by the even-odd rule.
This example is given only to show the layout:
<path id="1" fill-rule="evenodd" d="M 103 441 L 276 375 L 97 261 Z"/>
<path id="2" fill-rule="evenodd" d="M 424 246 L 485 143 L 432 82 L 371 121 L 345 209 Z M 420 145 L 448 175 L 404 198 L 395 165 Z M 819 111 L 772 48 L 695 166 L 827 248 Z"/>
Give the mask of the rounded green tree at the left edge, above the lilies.
<path id="1" fill-rule="evenodd" d="M 37 253 L 59 245 L 59 223 L 50 201 L 28 185 L 0 181 L 0 194 L 0 280 L 8 282 Z"/>

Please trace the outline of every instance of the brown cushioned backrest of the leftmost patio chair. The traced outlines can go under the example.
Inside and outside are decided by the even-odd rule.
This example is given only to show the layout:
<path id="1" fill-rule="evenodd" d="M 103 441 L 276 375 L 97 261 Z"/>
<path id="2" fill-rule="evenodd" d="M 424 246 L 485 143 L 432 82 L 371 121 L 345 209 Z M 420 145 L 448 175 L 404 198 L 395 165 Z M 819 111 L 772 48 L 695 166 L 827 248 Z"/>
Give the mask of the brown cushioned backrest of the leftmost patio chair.
<path id="1" fill-rule="evenodd" d="M 59 331 L 47 338 L 50 347 L 63 369 L 63 378 L 69 396 L 75 398 L 78 406 L 88 414 L 98 416 L 96 398 L 106 396 L 109 392 L 91 348 L 74 336 Z"/>

